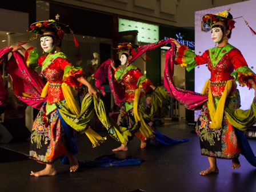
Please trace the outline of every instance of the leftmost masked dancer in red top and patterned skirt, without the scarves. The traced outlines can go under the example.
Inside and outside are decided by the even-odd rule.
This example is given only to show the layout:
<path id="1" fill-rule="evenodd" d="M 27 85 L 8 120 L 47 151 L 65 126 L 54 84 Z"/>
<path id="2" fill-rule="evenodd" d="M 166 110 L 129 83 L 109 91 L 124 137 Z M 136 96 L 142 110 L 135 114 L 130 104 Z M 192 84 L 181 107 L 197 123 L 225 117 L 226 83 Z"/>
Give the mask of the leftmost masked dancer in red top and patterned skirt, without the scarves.
<path id="1" fill-rule="evenodd" d="M 83 84 L 95 97 L 97 91 L 83 78 L 82 69 L 72 66 L 60 50 L 61 40 L 69 27 L 49 20 L 33 23 L 30 29 L 37 35 L 42 34 L 40 41 L 45 55 L 38 57 L 37 49 L 34 47 L 25 50 L 21 45 L 10 46 L 12 51 L 21 50 L 25 54 L 27 66 L 32 68 L 42 66 L 41 75 L 48 81 L 41 96 L 46 97 L 46 102 L 33 123 L 30 147 L 30 158 L 45 163 L 46 167 L 38 172 L 31 171 L 30 175 L 39 177 L 57 174 L 54 161 L 62 155 L 67 156 L 70 172 L 74 172 L 78 169 L 78 161 L 74 156 L 74 153 L 77 153 L 74 130 L 63 121 L 59 110 L 65 108 L 66 111 L 72 112 L 69 100 L 74 99 L 70 94 L 74 87 Z M 72 105 L 71 107 L 75 108 Z"/>

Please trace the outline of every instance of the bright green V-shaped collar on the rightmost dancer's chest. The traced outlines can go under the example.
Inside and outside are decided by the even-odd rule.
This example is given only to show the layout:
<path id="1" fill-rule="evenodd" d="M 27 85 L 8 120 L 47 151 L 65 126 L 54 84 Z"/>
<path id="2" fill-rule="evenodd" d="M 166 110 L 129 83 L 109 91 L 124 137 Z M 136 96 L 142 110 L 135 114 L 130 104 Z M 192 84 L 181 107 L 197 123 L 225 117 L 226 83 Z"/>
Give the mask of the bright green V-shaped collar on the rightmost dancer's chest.
<path id="1" fill-rule="evenodd" d="M 215 67 L 218 64 L 218 62 L 221 61 L 222 57 L 234 48 L 234 46 L 227 44 L 225 47 L 213 47 L 209 49 L 209 55 L 213 66 Z"/>

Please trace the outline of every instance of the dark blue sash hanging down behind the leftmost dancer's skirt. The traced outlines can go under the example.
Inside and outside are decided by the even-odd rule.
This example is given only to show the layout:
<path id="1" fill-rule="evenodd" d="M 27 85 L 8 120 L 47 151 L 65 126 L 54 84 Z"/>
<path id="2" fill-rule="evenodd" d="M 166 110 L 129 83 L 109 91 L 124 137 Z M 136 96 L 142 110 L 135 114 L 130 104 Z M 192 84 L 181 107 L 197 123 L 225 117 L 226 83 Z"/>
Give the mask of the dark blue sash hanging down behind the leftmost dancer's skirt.
<path id="1" fill-rule="evenodd" d="M 75 135 L 74 135 L 74 129 L 64 121 L 59 111 L 58 111 L 58 115 L 59 115 L 59 119 L 61 120 L 61 126 L 63 127 L 64 133 L 65 133 L 65 144 L 67 147 L 67 151 L 69 151 L 70 154 L 76 154 L 78 153 L 78 147 L 77 147 L 77 139 L 75 138 Z M 62 162 L 62 165 L 69 165 L 69 159 L 67 158 L 66 155 L 62 157 L 61 162 Z"/>

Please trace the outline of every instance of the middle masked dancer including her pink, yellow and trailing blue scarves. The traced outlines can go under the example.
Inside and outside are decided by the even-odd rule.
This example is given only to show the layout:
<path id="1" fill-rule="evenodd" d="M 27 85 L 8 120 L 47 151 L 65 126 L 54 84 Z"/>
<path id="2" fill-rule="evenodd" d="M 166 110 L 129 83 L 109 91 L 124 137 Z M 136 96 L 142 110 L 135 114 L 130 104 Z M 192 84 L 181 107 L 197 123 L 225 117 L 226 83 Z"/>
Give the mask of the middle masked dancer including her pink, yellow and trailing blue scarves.
<path id="1" fill-rule="evenodd" d="M 122 135 L 126 135 L 127 142 L 130 141 L 134 135 L 141 139 L 142 149 L 146 147 L 146 141 L 153 138 L 158 139 L 165 145 L 187 141 L 187 139 L 178 141 L 168 138 L 165 135 L 154 132 L 154 130 L 146 124 L 143 119 L 145 114 L 145 107 L 143 107 L 145 106 L 145 93 L 149 91 L 149 89 L 154 90 L 152 94 L 154 97 L 154 103 L 152 103 L 154 107 L 151 110 L 152 114 L 155 113 L 159 107 L 162 107 L 162 100 L 166 99 L 167 94 L 163 90 L 163 87 L 155 88 L 149 79 L 141 74 L 138 67 L 130 65 L 130 63 L 146 51 L 154 50 L 169 42 L 170 40 L 159 41 L 141 47 L 137 47 L 131 43 L 121 43 L 118 46 L 119 51 L 122 51 L 120 58 L 121 67 L 116 68 L 113 60 L 109 59 L 103 62 L 94 74 L 94 78 L 96 79 L 95 86 L 101 90 L 103 95 L 105 95 L 105 92 L 102 83 L 105 81 L 106 74 L 108 75 L 115 104 L 120 107 L 118 116 L 119 131 Z M 121 84 L 124 85 L 125 88 L 121 86 Z M 121 143 L 121 146 L 113 149 L 113 151 L 121 150 L 128 150 L 127 143 Z"/>

